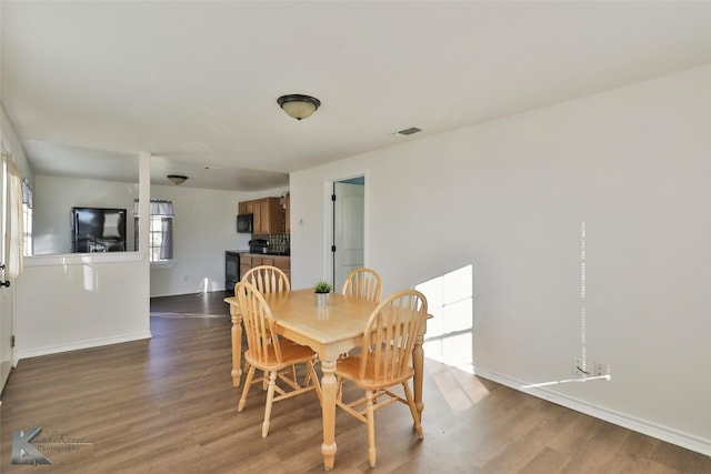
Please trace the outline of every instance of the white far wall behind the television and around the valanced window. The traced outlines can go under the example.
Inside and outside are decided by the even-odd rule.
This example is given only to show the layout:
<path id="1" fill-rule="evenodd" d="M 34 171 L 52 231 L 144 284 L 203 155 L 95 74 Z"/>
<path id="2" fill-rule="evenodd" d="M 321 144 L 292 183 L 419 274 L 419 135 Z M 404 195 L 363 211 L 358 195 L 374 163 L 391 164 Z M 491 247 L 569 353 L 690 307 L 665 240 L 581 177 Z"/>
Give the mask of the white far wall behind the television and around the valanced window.
<path id="1" fill-rule="evenodd" d="M 137 164 L 138 165 L 138 164 Z M 281 190 L 264 191 L 280 195 Z M 249 234 L 237 233 L 238 203 L 256 194 L 176 185 L 152 185 L 151 198 L 173 201 L 171 268 L 152 268 L 150 295 L 164 296 L 224 290 L 224 251 L 249 248 Z M 133 249 L 133 200 L 138 184 L 38 175 L 34 193 L 34 253 L 70 250 L 72 206 L 126 208 L 127 235 Z M 207 280 L 206 280 L 207 279 Z M 206 284 L 207 281 L 207 284 Z"/>

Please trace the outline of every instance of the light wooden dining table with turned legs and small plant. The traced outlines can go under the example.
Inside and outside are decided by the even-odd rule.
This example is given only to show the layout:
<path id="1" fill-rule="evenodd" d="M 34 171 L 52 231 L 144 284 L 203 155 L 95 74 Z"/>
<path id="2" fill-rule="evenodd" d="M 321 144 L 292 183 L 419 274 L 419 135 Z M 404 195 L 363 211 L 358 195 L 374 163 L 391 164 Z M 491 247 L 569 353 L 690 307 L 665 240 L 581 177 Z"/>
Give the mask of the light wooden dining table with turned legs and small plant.
<path id="1" fill-rule="evenodd" d="M 308 345 L 319 354 L 321 363 L 321 411 L 323 421 L 323 467 L 333 468 L 336 458 L 336 363 L 339 356 L 353 347 L 360 346 L 365 322 L 378 306 L 378 303 L 331 293 L 327 306 L 316 305 L 312 289 L 296 290 L 283 293 L 267 293 L 264 300 L 277 320 L 277 331 L 283 337 L 302 345 Z M 232 316 L 232 381 L 239 386 L 242 355 L 242 316 L 237 299 L 226 297 L 230 304 Z M 422 420 L 422 371 L 424 352 L 422 341 L 425 327 L 419 334 L 412 353 L 414 369 L 414 403 Z"/>

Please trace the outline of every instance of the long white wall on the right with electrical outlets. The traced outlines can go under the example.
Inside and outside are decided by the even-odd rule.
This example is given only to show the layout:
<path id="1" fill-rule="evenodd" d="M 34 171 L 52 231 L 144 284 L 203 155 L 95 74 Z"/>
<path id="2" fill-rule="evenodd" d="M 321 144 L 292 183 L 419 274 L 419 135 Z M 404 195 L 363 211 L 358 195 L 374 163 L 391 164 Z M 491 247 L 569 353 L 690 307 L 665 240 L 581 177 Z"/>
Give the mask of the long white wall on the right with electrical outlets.
<path id="1" fill-rule="evenodd" d="M 364 172 L 365 264 L 384 294 L 472 265 L 473 362 L 711 454 L 711 67 L 290 177 L 293 286 L 327 266 L 326 183 Z M 585 297 L 581 297 L 581 225 Z"/>

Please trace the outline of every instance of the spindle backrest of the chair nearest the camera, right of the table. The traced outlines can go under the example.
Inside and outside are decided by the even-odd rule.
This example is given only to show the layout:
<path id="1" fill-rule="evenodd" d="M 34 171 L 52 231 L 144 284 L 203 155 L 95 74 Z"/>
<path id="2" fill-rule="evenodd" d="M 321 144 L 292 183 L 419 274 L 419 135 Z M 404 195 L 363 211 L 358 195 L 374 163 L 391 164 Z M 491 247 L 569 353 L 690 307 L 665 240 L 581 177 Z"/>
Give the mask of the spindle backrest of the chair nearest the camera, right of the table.
<path id="1" fill-rule="evenodd" d="M 359 376 L 365 377 L 372 360 L 375 381 L 397 379 L 407 371 L 414 342 L 427 317 L 427 300 L 415 290 L 403 290 L 380 303 L 365 326 Z"/>

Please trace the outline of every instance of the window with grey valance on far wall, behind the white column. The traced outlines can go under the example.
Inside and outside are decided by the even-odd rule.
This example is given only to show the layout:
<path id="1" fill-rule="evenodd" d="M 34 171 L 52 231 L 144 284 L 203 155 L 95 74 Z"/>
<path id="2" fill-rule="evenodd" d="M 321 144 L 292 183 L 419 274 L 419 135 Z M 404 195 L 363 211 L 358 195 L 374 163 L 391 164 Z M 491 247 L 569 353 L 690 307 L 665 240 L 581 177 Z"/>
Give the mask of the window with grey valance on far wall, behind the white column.
<path id="1" fill-rule="evenodd" d="M 173 203 L 151 199 L 149 208 L 148 259 L 151 264 L 169 264 L 173 261 Z M 138 200 L 133 202 L 133 240 L 139 250 Z"/>

